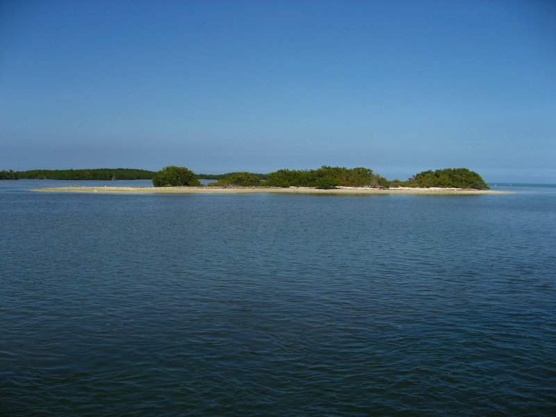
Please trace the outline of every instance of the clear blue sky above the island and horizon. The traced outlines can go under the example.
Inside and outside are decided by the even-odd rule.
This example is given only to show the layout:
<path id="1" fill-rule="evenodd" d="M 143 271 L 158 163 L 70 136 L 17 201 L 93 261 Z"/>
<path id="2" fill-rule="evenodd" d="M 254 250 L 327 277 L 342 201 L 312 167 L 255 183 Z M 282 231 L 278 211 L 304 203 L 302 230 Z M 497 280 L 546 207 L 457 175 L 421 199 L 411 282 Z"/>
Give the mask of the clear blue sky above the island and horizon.
<path id="1" fill-rule="evenodd" d="M 0 3 L 0 169 L 556 183 L 556 2 Z"/>

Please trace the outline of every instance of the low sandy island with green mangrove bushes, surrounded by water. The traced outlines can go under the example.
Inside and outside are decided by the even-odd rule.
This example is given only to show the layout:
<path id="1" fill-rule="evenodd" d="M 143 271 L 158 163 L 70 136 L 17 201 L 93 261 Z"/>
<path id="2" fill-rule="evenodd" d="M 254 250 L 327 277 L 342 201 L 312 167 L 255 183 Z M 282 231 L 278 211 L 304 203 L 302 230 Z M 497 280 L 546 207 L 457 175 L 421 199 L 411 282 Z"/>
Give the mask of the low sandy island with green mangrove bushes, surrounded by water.
<path id="1" fill-rule="evenodd" d="M 265 174 L 234 172 L 202 186 L 195 172 L 167 166 L 152 177 L 153 187 L 71 186 L 36 191 L 72 193 L 288 193 L 288 194 L 503 194 L 492 191 L 479 174 L 467 168 L 429 170 L 407 181 L 388 181 L 369 168 L 330 167 L 278 170 Z"/>

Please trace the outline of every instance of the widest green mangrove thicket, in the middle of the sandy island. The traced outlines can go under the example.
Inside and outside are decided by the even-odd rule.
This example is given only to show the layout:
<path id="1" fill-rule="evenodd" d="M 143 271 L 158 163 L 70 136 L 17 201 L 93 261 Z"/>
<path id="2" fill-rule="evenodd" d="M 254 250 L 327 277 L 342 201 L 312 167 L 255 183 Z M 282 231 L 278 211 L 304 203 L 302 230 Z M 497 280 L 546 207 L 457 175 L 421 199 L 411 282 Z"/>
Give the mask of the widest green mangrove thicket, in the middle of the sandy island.
<path id="1" fill-rule="evenodd" d="M 322 166 L 318 170 L 278 170 L 270 172 L 265 186 L 271 187 L 370 187 L 389 188 L 389 181 L 363 167 Z"/>

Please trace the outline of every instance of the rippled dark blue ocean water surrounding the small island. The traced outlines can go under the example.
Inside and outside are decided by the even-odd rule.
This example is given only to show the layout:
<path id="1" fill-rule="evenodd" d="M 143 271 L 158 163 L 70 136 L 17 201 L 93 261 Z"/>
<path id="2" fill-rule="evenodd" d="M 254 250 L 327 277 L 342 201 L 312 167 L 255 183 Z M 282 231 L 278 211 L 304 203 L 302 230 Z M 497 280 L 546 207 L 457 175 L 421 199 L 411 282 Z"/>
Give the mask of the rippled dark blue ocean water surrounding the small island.
<path id="1" fill-rule="evenodd" d="M 555 415 L 556 186 L 61 183 L 0 181 L 0 415 Z"/>

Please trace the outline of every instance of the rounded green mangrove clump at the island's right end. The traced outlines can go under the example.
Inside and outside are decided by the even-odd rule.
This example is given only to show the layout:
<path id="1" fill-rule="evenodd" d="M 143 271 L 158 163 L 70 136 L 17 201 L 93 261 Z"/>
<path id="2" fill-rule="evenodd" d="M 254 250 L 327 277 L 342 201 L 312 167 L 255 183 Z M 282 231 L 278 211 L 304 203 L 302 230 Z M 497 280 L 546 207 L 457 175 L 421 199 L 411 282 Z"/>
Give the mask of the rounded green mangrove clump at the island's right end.
<path id="1" fill-rule="evenodd" d="M 441 188 L 475 188 L 488 190 L 490 187 L 477 172 L 467 168 L 446 168 L 445 170 L 428 170 L 419 172 L 407 181 L 395 180 L 392 186 L 400 187 L 441 187 Z"/>

